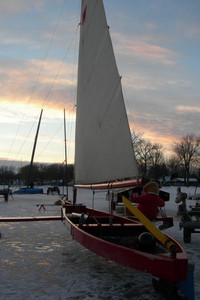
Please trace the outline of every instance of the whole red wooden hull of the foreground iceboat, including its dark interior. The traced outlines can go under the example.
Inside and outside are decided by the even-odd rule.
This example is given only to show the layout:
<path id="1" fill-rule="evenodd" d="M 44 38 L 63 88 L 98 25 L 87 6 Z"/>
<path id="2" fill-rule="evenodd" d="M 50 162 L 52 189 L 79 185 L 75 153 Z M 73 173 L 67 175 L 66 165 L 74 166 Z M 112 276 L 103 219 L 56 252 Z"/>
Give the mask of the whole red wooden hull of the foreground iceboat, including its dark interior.
<path id="1" fill-rule="evenodd" d="M 83 214 L 89 216 L 84 222 Z M 73 239 L 97 255 L 171 282 L 187 279 L 187 255 L 171 237 L 178 249 L 176 255 L 158 241 L 155 251 L 144 252 L 137 242 L 138 236 L 147 230 L 137 221 L 73 205 L 63 206 L 63 218 L 70 225 Z"/>

